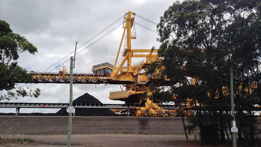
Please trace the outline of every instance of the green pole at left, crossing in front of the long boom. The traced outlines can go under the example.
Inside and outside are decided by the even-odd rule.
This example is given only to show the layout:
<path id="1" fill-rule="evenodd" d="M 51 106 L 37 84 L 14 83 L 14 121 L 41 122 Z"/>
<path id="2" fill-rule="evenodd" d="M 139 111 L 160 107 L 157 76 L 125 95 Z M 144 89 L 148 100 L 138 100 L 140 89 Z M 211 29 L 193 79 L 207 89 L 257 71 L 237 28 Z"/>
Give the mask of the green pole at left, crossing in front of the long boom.
<path id="1" fill-rule="evenodd" d="M 70 64 L 70 103 L 69 106 L 72 106 L 72 75 L 73 75 L 73 57 L 71 57 L 71 64 Z M 68 139 L 67 139 L 67 147 L 71 147 L 71 118 L 72 113 L 69 113 L 69 120 L 68 120 Z"/>

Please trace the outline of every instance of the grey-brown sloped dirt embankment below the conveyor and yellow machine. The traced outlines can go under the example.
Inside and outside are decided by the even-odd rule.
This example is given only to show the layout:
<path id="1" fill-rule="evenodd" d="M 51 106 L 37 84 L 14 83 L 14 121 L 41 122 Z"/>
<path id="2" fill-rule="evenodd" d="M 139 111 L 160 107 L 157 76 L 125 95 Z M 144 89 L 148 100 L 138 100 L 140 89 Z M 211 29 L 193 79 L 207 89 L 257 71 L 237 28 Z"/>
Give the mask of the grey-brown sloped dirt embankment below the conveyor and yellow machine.
<path id="1" fill-rule="evenodd" d="M 185 118 L 186 123 L 187 119 Z M 5 134 L 67 134 L 68 116 L 0 116 Z M 184 134 L 177 117 L 73 116 L 72 134 Z M 198 132 L 195 132 L 196 134 Z"/>

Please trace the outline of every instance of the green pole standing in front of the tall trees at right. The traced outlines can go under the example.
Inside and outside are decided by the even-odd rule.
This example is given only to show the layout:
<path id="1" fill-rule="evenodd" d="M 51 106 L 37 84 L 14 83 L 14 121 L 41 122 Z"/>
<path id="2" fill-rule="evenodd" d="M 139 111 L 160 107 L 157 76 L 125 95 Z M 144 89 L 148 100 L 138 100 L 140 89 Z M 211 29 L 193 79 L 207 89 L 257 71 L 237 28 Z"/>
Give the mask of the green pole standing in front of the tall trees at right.
<path id="1" fill-rule="evenodd" d="M 231 94 L 231 116 L 233 117 L 232 126 L 235 122 L 235 110 L 234 110 L 234 90 L 233 90 L 233 68 L 230 68 L 230 94 Z M 233 147 L 236 147 L 236 132 L 232 132 Z"/>

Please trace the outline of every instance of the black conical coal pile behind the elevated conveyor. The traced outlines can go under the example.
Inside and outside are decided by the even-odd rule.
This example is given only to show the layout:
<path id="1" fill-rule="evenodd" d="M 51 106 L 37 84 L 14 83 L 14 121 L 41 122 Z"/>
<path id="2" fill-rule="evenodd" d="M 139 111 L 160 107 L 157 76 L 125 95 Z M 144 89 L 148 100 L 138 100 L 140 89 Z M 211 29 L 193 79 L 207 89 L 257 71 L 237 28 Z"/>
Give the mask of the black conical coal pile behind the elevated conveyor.
<path id="1" fill-rule="evenodd" d="M 92 95 L 89 95 L 88 93 L 85 93 L 84 95 L 81 95 L 77 99 L 75 99 L 73 102 L 77 105 L 101 105 L 101 103 L 98 99 L 94 98 Z M 58 112 L 56 112 L 56 116 L 68 116 L 68 112 L 66 112 L 66 108 L 62 108 Z M 75 116 L 117 116 L 111 109 L 98 109 L 98 108 L 76 108 L 75 109 Z"/>

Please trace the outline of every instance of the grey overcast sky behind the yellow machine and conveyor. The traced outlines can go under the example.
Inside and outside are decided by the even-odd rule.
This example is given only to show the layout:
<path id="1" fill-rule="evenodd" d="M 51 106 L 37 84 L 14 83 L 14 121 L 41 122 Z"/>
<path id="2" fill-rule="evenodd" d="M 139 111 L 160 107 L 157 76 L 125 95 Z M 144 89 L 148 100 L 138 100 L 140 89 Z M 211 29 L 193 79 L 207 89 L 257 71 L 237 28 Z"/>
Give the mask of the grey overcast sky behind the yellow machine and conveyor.
<path id="1" fill-rule="evenodd" d="M 14 33 L 24 36 L 38 48 L 38 53 L 22 53 L 18 65 L 28 71 L 42 72 L 75 49 L 80 47 L 104 28 L 121 18 L 128 11 L 159 23 L 167 8 L 175 1 L 170 0 L 8 0 L 0 1 L 0 19 L 5 20 Z M 123 18 L 104 33 L 77 50 L 74 72 L 91 73 L 93 65 L 109 62 L 114 65 L 123 33 L 122 25 L 101 38 L 123 22 Z M 156 25 L 135 17 L 135 22 L 156 31 Z M 157 33 L 136 25 L 137 38 L 132 39 L 132 49 L 158 48 Z M 97 39 L 99 41 L 91 45 Z M 89 46 L 91 45 L 91 46 Z M 88 47 L 89 46 L 89 47 Z M 86 48 L 88 47 L 88 48 Z M 86 48 L 86 49 L 84 49 Z M 83 50 L 84 49 L 84 50 Z M 123 51 L 123 47 L 122 50 Z M 76 52 L 76 53 L 77 53 Z M 74 53 L 73 53 L 74 54 Z M 70 56 L 73 56 L 71 54 Z M 60 63 L 69 59 L 70 56 Z M 121 57 L 119 57 L 121 59 Z M 142 59 L 135 59 L 133 63 Z M 68 72 L 70 61 L 65 62 Z M 117 66 L 119 65 L 119 61 Z M 51 68 L 52 69 L 52 68 Z M 48 72 L 58 72 L 58 68 Z M 41 95 L 20 98 L 9 102 L 49 102 L 69 103 L 69 84 L 22 84 L 30 89 L 41 89 Z M 97 98 L 102 103 L 121 104 L 109 100 L 110 90 L 120 90 L 120 85 L 74 84 L 73 99 L 84 93 Z M 20 109 L 20 113 L 54 113 L 57 109 Z M 15 109 L 0 109 L 0 112 L 15 112 Z"/>

